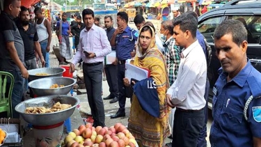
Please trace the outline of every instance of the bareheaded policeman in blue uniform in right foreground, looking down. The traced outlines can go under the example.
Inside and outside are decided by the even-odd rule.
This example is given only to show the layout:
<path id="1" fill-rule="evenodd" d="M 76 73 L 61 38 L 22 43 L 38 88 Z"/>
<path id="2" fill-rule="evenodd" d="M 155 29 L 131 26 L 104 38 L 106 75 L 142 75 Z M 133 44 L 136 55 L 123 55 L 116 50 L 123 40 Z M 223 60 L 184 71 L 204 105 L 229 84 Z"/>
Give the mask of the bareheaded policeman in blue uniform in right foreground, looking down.
<path id="1" fill-rule="evenodd" d="M 226 20 L 214 32 L 222 68 L 213 88 L 212 147 L 261 146 L 261 74 L 246 57 L 246 40 L 238 20 Z"/>

